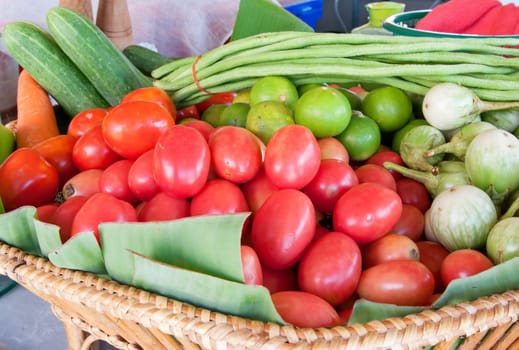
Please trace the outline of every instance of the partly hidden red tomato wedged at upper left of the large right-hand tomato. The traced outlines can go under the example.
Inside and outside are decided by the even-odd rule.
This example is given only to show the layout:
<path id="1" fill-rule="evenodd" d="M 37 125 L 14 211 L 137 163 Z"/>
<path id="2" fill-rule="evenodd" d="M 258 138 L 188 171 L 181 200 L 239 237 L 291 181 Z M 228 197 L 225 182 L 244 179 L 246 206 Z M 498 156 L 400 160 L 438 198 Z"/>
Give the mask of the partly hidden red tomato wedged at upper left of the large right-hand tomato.
<path id="1" fill-rule="evenodd" d="M 324 159 L 303 192 L 310 197 L 317 210 L 331 214 L 339 198 L 358 184 L 357 174 L 348 163 Z"/>

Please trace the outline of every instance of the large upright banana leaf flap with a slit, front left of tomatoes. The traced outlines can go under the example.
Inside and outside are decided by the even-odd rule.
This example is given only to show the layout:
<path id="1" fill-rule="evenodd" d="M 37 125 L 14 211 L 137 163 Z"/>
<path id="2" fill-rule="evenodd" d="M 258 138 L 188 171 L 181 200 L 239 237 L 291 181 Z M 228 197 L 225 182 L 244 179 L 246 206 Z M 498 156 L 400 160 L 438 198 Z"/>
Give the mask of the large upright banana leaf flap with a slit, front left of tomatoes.
<path id="1" fill-rule="evenodd" d="M 250 213 L 187 217 L 172 221 L 99 225 L 108 274 L 131 284 L 133 254 L 243 282 L 240 242 Z"/>

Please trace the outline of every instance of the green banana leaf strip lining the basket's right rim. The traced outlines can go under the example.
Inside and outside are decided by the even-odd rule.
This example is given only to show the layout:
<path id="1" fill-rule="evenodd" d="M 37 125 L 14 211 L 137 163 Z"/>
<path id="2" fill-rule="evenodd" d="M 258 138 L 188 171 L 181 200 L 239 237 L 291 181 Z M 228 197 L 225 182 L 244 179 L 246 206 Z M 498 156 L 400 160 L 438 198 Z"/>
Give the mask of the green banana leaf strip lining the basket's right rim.
<path id="1" fill-rule="evenodd" d="M 480 272 L 477 275 L 452 281 L 436 302 L 429 307 L 397 306 L 358 300 L 348 324 L 366 323 L 389 317 L 403 317 L 426 309 L 475 300 L 479 297 L 519 289 L 519 257 Z"/>

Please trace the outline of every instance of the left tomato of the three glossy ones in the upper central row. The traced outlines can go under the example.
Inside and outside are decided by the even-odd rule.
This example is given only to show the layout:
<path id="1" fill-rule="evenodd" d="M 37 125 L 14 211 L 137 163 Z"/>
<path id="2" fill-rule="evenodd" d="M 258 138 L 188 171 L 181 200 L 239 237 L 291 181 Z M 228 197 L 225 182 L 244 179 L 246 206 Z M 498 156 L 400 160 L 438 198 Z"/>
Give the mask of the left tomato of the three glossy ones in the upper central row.
<path id="1" fill-rule="evenodd" d="M 197 130 L 175 125 L 158 140 L 153 154 L 153 174 L 167 194 L 188 198 L 204 187 L 211 165 L 209 145 Z"/>

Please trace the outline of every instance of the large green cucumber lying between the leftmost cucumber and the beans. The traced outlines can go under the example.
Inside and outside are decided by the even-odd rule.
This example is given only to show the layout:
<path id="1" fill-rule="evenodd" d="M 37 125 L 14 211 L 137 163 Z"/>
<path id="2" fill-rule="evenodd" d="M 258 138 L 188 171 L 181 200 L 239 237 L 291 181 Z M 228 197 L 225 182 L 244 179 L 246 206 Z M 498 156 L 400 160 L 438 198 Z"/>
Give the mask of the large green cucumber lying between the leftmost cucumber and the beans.
<path id="1" fill-rule="evenodd" d="M 47 10 L 46 20 L 63 52 L 112 106 L 130 91 L 151 86 L 151 79 L 86 17 L 65 7 L 53 7 Z"/>

